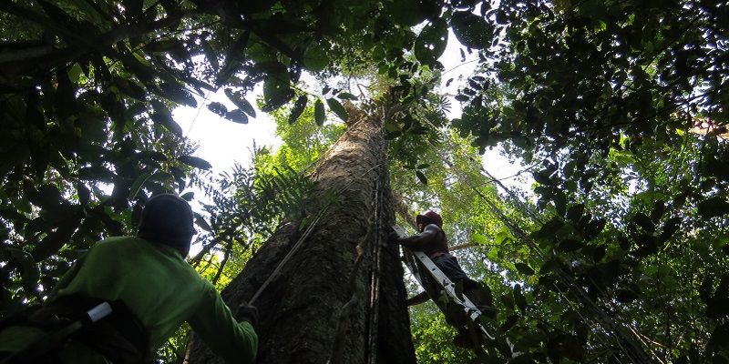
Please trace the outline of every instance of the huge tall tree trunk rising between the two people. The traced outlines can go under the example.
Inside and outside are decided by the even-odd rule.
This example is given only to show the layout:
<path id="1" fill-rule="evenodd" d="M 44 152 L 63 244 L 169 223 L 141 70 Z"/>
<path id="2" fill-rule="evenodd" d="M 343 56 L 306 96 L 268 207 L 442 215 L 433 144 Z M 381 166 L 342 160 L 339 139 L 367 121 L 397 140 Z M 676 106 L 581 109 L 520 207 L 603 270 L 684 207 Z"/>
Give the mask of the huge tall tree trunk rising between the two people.
<path id="1" fill-rule="evenodd" d="M 304 224 L 279 227 L 223 291 L 231 308 L 250 300 L 313 225 L 254 302 L 259 364 L 416 361 L 399 251 L 386 243 L 395 217 L 382 120 L 347 108 L 346 133 L 313 173 L 317 187 Z M 219 360 L 200 339 L 188 358 Z"/>

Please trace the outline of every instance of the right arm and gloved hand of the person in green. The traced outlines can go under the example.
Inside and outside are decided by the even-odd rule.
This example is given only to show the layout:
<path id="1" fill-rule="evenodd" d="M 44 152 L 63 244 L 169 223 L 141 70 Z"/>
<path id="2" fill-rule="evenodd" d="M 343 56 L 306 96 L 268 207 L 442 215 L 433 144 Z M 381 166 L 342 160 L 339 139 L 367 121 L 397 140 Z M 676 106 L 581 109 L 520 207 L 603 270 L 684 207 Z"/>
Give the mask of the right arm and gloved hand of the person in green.
<path id="1" fill-rule="evenodd" d="M 231 309 L 221 295 L 210 286 L 195 314 L 188 320 L 190 327 L 216 355 L 228 363 L 252 363 L 258 352 L 258 336 L 252 323 L 233 318 Z"/>

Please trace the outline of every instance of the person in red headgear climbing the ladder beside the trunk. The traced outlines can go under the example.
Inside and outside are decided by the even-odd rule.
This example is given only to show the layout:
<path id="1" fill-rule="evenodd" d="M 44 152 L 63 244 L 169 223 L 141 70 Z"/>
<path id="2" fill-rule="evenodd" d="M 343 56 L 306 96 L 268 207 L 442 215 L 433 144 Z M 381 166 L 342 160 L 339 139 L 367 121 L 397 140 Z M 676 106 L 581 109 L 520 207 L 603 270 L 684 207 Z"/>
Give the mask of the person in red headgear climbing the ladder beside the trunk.
<path id="1" fill-rule="evenodd" d="M 428 210 L 422 215 L 416 216 L 418 234 L 410 237 L 401 237 L 395 232 L 390 236 L 392 243 L 400 244 L 411 250 L 422 251 L 427 258 L 432 260 L 436 268 L 457 285 L 458 290 L 462 292 L 470 301 L 474 303 L 481 314 L 493 317 L 495 310 L 492 307 L 491 291 L 487 286 L 482 286 L 477 281 L 468 278 L 466 272 L 458 265 L 457 258 L 452 256 L 448 250 L 446 233 L 443 231 L 443 218 L 435 211 Z M 421 282 L 422 284 L 423 282 Z M 425 291 L 407 299 L 407 305 L 413 306 L 424 303 L 433 292 Z M 467 329 L 467 322 L 464 320 L 462 309 L 448 309 L 446 312 L 446 321 L 448 324 L 458 329 L 458 335 L 454 342 L 458 346 L 467 347 L 470 341 Z M 460 313 L 457 315 L 456 313 Z"/>

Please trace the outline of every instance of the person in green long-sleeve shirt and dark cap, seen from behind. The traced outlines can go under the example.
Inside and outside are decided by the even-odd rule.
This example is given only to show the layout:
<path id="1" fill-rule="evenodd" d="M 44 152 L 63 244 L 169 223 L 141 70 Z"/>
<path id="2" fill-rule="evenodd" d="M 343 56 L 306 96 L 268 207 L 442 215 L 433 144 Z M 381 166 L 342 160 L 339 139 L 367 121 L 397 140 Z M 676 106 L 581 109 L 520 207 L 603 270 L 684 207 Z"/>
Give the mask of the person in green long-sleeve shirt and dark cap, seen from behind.
<path id="1" fill-rule="evenodd" d="M 187 321 L 222 359 L 252 363 L 258 349 L 253 329 L 257 311 L 241 305 L 239 322 L 212 284 L 185 261 L 194 234 L 187 201 L 172 194 L 151 197 L 142 210 L 137 237 L 99 241 L 61 278 L 42 308 L 0 331 L 0 361 L 42 342 L 53 331 L 46 321 L 63 321 L 66 312 L 85 312 L 107 301 L 116 308 L 109 318 L 87 325 L 51 350 L 53 362 L 150 359 Z M 74 315 L 68 314 L 68 319 Z"/>

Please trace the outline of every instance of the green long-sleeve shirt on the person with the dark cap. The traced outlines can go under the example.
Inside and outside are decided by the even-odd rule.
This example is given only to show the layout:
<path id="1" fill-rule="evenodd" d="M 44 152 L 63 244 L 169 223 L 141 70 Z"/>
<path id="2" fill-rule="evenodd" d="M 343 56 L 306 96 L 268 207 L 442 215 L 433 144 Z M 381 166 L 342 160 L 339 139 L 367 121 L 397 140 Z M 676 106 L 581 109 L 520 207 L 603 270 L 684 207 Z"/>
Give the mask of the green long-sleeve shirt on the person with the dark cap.
<path id="1" fill-rule="evenodd" d="M 258 349 L 251 324 L 233 319 L 220 294 L 180 252 L 142 238 L 108 238 L 90 248 L 49 299 L 71 294 L 123 301 L 148 330 L 149 352 L 184 321 L 228 362 L 250 363 Z"/>

